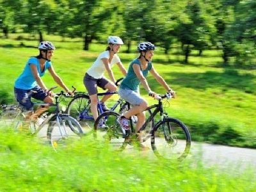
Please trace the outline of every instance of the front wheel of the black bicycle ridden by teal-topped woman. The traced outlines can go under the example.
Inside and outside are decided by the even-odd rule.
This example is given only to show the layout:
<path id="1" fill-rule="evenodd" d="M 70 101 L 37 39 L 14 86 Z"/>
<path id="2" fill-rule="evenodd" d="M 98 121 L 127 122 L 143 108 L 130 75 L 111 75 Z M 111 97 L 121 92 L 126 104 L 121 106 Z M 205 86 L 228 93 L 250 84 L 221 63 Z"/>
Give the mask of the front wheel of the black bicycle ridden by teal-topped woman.
<path id="1" fill-rule="evenodd" d="M 157 157 L 184 159 L 189 152 L 191 137 L 186 125 L 175 118 L 165 118 L 154 127 L 151 147 Z"/>

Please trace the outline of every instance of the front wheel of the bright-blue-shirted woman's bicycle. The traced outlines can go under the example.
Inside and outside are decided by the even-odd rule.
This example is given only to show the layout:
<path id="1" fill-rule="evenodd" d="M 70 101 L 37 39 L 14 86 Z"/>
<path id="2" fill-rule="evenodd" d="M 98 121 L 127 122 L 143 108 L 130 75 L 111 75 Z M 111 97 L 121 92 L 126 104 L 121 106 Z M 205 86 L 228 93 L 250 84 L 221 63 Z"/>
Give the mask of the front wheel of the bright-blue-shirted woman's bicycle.
<path id="1" fill-rule="evenodd" d="M 49 121 L 47 137 L 54 150 L 66 147 L 68 143 L 79 140 L 82 135 L 81 125 L 72 116 L 54 116 Z"/>

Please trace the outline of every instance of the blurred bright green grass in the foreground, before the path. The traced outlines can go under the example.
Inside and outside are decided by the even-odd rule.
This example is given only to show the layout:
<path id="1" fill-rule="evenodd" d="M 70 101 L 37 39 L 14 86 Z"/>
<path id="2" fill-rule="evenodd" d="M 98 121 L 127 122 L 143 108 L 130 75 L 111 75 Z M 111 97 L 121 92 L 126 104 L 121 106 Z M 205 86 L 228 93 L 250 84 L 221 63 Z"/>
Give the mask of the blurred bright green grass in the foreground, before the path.
<path id="1" fill-rule="evenodd" d="M 90 138 L 54 152 L 27 132 L 0 127 L 0 191 L 255 191 L 255 172 L 239 164 L 205 167 L 147 153 L 113 152 Z M 193 159 L 193 160 L 192 160 Z M 199 159 L 199 160 L 198 160 Z"/>

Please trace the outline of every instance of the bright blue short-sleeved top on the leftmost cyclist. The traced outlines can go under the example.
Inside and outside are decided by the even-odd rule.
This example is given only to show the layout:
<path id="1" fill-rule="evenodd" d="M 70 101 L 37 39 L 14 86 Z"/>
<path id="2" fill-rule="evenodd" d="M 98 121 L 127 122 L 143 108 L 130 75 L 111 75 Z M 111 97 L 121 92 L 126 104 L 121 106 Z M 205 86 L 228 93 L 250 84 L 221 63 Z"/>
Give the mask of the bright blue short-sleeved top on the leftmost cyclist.
<path id="1" fill-rule="evenodd" d="M 22 90 L 31 90 L 37 85 L 36 79 L 32 74 L 30 65 L 36 65 L 38 74 L 40 77 L 42 77 L 44 76 L 47 68 L 51 67 L 51 61 L 45 61 L 44 71 L 41 72 L 39 60 L 35 57 L 29 58 L 22 74 L 20 74 L 20 76 L 15 81 L 15 88 L 19 88 Z"/>

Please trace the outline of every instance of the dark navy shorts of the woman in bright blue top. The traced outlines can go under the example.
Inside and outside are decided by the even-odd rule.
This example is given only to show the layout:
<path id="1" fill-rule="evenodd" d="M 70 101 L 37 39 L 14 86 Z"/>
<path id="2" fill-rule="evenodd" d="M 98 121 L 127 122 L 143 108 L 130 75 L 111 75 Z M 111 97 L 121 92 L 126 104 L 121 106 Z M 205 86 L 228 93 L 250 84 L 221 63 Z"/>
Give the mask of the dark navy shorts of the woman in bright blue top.
<path id="1" fill-rule="evenodd" d="M 31 97 L 42 101 L 44 101 L 45 97 L 47 97 L 47 93 L 45 93 L 40 86 L 35 86 L 35 88 L 32 88 L 31 90 L 14 88 L 14 94 L 16 100 L 26 110 L 33 110 L 33 102 L 31 102 Z"/>

